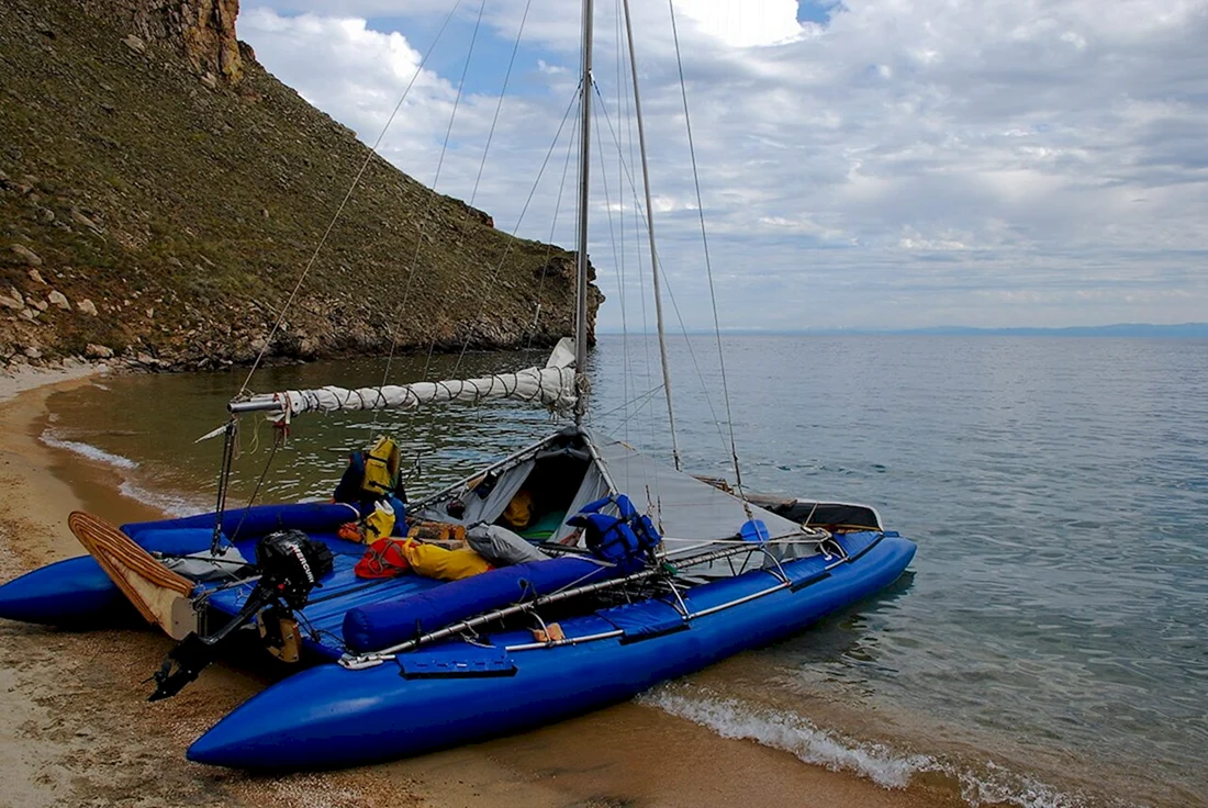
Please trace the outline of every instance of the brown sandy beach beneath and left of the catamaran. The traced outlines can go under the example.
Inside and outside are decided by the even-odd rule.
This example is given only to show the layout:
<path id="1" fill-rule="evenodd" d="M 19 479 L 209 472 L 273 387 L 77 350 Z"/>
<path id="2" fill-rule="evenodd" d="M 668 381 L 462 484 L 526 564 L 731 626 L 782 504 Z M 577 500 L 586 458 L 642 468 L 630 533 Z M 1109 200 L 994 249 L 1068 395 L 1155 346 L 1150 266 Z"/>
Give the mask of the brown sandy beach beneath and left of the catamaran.
<path id="1" fill-rule="evenodd" d="M 88 368 L 0 374 L 0 581 L 80 554 L 66 515 L 157 518 L 114 469 L 42 444 L 48 400 Z M 962 804 L 935 784 L 887 790 L 788 752 L 728 740 L 640 703 L 521 736 L 342 772 L 248 775 L 190 763 L 187 745 L 261 690 L 217 664 L 149 704 L 170 640 L 132 620 L 69 633 L 0 622 L 0 807 L 40 806 L 815 806 Z M 725 663 L 722 663 L 725 664 Z"/>

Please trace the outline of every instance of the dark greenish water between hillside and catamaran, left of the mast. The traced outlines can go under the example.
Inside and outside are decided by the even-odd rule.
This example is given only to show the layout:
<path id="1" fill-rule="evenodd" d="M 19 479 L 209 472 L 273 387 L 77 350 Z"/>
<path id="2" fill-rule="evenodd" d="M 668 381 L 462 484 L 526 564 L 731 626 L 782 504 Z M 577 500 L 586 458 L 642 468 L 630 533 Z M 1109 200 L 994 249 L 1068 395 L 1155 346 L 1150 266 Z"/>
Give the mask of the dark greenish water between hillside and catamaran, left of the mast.
<path id="1" fill-rule="evenodd" d="M 501 370 L 544 364 L 544 351 L 434 356 L 428 378 L 453 372 L 474 377 Z M 425 356 L 396 358 L 390 383 L 414 380 L 429 362 Z M 339 384 L 362 386 L 382 380 L 383 362 L 354 360 L 339 364 L 296 365 L 262 370 L 256 390 L 283 390 Z M 47 442 L 111 447 L 121 457 L 139 458 L 133 490 L 152 487 L 184 495 L 208 506 L 216 493 L 222 440 L 193 444 L 192 438 L 220 426 L 226 403 L 243 382 L 239 372 L 187 376 L 138 376 L 106 382 L 105 395 L 60 396 L 59 420 Z M 242 419 L 239 455 L 232 476 L 233 501 L 250 496 L 263 473 L 273 443 L 273 428 L 261 417 Z M 548 430 L 541 411 L 507 405 L 448 406 L 407 413 L 308 414 L 292 424 L 285 447 L 273 458 L 261 501 L 326 499 L 335 489 L 348 455 L 364 448 L 377 434 L 396 437 L 411 467 L 417 493 L 453 482 L 474 467 L 498 459 L 536 440 Z"/>

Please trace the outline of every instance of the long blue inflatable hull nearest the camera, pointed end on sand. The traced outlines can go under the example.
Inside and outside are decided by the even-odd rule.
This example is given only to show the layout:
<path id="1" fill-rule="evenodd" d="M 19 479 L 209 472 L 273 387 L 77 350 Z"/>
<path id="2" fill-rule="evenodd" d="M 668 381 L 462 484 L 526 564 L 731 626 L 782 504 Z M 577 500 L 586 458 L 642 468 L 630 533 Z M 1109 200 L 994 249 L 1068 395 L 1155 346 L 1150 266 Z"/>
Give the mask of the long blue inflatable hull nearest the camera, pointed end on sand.
<path id="1" fill-rule="evenodd" d="M 850 563 L 821 557 L 785 564 L 797 583 L 690 623 L 651 616 L 640 601 L 562 621 L 568 636 L 621 636 L 538 647 L 525 632 L 490 635 L 490 647 L 449 643 L 349 670 L 324 664 L 273 685 L 222 719 L 190 760 L 245 769 L 353 766 L 418 755 L 541 726 L 621 702 L 652 685 L 801 630 L 893 583 L 914 556 L 895 534 L 848 540 Z M 755 595 L 777 583 L 767 571 L 702 585 L 685 595 L 693 612 Z M 626 612 L 629 614 L 610 614 Z M 649 630 L 655 628 L 657 630 Z"/>

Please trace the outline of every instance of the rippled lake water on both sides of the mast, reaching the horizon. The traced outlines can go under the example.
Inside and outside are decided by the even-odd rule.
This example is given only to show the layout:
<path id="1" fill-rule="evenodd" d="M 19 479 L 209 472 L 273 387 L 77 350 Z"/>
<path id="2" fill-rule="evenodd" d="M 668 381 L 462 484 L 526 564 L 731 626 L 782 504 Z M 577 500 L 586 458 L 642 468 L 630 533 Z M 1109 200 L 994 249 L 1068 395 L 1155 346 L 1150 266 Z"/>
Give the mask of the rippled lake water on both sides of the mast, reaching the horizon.
<path id="1" fill-rule="evenodd" d="M 641 699 L 726 737 L 912 778 L 970 804 L 1208 804 L 1208 342 L 731 337 L 730 408 L 750 490 L 876 506 L 914 539 L 883 595 Z M 602 337 L 593 423 L 669 457 L 657 349 Z M 396 359 L 391 380 L 544 354 Z M 673 341 L 685 469 L 727 475 L 716 345 Z M 254 388 L 376 384 L 383 362 L 268 368 Z M 52 401 L 43 440 L 118 469 L 170 511 L 207 508 L 236 373 L 106 379 Z M 245 419 L 234 494 L 272 443 Z M 506 405 L 303 417 L 262 499 L 325 498 L 347 454 L 394 434 L 412 494 L 542 436 Z"/>

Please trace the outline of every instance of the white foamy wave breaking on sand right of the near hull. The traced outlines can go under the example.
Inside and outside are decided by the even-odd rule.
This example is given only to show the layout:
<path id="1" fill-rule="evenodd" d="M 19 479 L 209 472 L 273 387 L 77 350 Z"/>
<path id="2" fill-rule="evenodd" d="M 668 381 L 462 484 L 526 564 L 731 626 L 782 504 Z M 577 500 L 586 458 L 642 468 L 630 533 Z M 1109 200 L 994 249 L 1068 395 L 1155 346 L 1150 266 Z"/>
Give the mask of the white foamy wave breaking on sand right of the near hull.
<path id="1" fill-rule="evenodd" d="M 939 775 L 959 789 L 969 806 L 1005 804 L 1020 808 L 1080 808 L 1087 801 L 1034 778 L 988 762 L 972 767 L 859 742 L 819 728 L 791 711 L 771 711 L 737 699 L 707 694 L 704 688 L 670 684 L 640 696 L 640 703 L 713 729 L 722 738 L 754 740 L 831 771 L 846 771 L 885 789 L 905 789 L 918 774 Z M 1123 803 L 1120 803 L 1123 804 Z"/>

